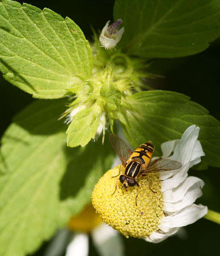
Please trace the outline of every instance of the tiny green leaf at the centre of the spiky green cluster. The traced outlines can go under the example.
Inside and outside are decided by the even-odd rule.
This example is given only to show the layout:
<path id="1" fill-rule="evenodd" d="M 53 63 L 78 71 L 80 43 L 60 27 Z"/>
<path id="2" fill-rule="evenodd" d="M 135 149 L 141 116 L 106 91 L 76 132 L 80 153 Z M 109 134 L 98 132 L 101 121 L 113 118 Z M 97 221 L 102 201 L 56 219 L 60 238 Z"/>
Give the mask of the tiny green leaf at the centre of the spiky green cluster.
<path id="1" fill-rule="evenodd" d="M 105 105 L 110 111 L 118 109 L 119 105 L 121 104 L 122 93 L 113 83 L 104 83 L 100 90 L 100 96 L 104 98 Z"/>

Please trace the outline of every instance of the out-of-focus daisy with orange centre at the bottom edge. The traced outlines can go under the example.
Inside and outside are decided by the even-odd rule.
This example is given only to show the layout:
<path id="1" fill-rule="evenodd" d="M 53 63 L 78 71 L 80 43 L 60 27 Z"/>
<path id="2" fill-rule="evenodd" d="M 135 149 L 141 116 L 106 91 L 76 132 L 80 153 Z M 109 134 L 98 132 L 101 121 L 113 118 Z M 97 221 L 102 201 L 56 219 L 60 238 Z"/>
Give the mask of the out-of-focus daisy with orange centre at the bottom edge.
<path id="1" fill-rule="evenodd" d="M 89 235 L 100 256 L 123 256 L 124 247 L 116 230 L 105 224 L 89 205 L 70 219 L 67 228 L 59 230 L 44 256 L 88 256 Z M 113 254 L 112 254 L 113 253 Z"/>

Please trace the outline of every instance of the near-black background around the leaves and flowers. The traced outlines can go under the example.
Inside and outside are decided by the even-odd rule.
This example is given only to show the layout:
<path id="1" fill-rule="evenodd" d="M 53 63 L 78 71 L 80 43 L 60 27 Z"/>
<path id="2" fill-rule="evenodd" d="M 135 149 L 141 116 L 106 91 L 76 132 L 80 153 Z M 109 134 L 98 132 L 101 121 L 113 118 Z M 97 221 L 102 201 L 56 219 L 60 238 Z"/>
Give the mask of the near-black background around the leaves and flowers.
<path id="1" fill-rule="evenodd" d="M 19 1 L 23 3 L 23 1 Z M 90 25 L 97 31 L 108 20 L 113 21 L 114 1 L 67 1 L 67 0 L 28 0 L 38 8 L 47 7 L 61 16 L 68 16 L 82 29 L 86 38 L 92 40 Z M 155 59 L 150 71 L 163 75 L 164 78 L 151 79 L 149 84 L 156 89 L 181 92 L 191 100 L 204 106 L 211 115 L 219 119 L 219 85 L 220 85 L 220 41 L 211 43 L 203 53 L 177 59 Z M 0 134 L 9 126 L 12 117 L 34 99 L 0 76 Z M 217 168 L 206 171 L 190 171 L 205 182 L 203 197 L 197 203 L 207 205 L 220 212 L 220 176 Z M 168 238 L 159 244 L 147 243 L 142 239 L 124 238 L 126 255 L 133 256 L 172 256 L 172 255 L 208 255 L 219 253 L 220 226 L 201 219 L 185 227 L 179 236 Z M 47 242 L 35 253 L 43 255 Z M 90 255 L 97 255 L 90 239 Z"/>

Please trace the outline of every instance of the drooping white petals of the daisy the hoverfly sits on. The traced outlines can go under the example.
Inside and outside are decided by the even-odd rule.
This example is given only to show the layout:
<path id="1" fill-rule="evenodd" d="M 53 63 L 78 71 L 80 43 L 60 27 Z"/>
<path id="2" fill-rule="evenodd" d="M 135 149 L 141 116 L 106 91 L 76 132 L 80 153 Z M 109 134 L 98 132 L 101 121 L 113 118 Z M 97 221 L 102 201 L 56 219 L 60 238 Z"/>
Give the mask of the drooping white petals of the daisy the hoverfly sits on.
<path id="1" fill-rule="evenodd" d="M 199 127 L 192 125 L 185 130 L 181 140 L 167 141 L 161 145 L 163 156 L 182 163 L 178 171 L 160 173 L 163 192 L 163 210 L 165 215 L 159 224 L 160 232 L 153 232 L 146 241 L 158 243 L 174 235 L 179 227 L 192 224 L 207 214 L 208 208 L 194 204 L 202 195 L 204 182 L 197 177 L 188 177 L 188 169 L 201 162 L 204 152 L 197 140 Z M 171 152 L 174 154 L 168 157 Z"/>

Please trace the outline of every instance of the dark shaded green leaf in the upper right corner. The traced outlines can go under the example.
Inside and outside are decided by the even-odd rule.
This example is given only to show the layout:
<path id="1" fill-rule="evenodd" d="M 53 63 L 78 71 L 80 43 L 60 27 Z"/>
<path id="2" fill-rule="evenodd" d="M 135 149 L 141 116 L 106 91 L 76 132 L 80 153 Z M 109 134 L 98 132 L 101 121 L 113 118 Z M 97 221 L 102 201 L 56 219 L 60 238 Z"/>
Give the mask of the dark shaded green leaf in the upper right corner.
<path id="1" fill-rule="evenodd" d="M 123 20 L 119 43 L 141 57 L 174 58 L 205 50 L 220 36 L 219 0 L 116 0 Z"/>

